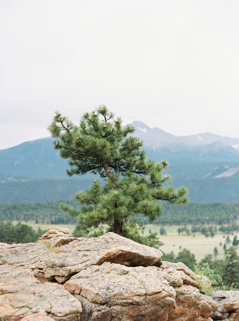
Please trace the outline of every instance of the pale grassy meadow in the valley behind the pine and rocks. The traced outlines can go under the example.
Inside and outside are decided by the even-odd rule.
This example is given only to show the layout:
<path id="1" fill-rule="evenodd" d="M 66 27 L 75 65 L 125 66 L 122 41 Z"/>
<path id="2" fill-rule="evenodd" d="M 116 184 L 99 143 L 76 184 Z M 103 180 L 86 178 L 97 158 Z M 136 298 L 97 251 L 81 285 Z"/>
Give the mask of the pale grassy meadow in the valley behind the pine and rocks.
<path id="1" fill-rule="evenodd" d="M 14 222 L 16 223 L 16 222 Z M 38 227 L 40 227 L 42 230 L 47 230 L 50 226 L 49 224 L 36 224 L 35 221 L 28 221 L 28 225 L 32 226 L 34 230 L 37 230 Z M 66 227 L 70 230 L 70 233 L 73 232 L 75 225 L 73 224 L 58 224 L 59 227 Z M 223 233 L 216 233 L 216 235 L 211 238 L 206 238 L 201 233 L 195 233 L 195 237 L 193 237 L 192 234 L 185 235 L 180 234 L 178 235 L 177 229 L 179 226 L 166 226 L 165 229 L 167 231 L 167 235 L 159 235 L 158 237 L 162 242 L 164 242 L 164 245 L 160 247 L 160 250 L 162 250 L 164 253 L 170 253 L 171 251 L 174 252 L 175 255 L 178 254 L 178 252 L 181 251 L 184 247 L 186 247 L 188 250 L 190 250 L 191 253 L 193 253 L 196 257 L 197 262 L 199 262 L 205 255 L 207 254 L 213 254 L 214 247 L 217 247 L 218 249 L 218 259 L 221 259 L 224 254 L 223 246 L 219 246 L 219 243 L 222 242 L 224 244 L 225 238 L 223 238 Z M 153 224 L 147 224 L 145 225 L 145 231 L 144 235 L 149 234 L 149 230 L 151 232 L 159 232 L 160 225 L 153 225 Z M 237 235 L 237 238 L 239 239 L 239 233 L 235 233 L 234 235 Z M 232 235 L 229 235 L 230 239 L 233 240 Z M 181 248 L 180 248 L 181 246 Z"/>

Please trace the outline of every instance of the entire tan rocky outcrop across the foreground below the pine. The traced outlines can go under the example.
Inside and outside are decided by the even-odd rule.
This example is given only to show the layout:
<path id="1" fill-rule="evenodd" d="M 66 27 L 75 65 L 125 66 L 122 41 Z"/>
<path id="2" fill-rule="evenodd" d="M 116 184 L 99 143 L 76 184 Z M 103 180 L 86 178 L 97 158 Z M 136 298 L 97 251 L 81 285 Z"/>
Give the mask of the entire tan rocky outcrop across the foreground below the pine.
<path id="1" fill-rule="evenodd" d="M 233 306 L 229 297 L 203 295 L 187 266 L 162 262 L 155 248 L 114 233 L 71 238 L 58 227 L 39 243 L 0 243 L 0 294 L 1 321 L 211 321 L 226 313 L 231 321 L 238 315 L 238 299 Z"/>

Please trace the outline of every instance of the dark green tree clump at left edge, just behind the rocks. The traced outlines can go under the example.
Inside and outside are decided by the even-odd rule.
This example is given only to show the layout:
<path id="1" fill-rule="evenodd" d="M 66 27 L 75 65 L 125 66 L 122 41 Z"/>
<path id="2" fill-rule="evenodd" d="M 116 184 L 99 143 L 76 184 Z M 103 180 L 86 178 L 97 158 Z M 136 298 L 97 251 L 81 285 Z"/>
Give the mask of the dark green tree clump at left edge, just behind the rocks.
<path id="1" fill-rule="evenodd" d="M 31 243 L 37 241 L 47 230 L 37 231 L 29 225 L 18 222 L 13 225 L 12 221 L 0 221 L 0 242 L 3 243 Z"/>

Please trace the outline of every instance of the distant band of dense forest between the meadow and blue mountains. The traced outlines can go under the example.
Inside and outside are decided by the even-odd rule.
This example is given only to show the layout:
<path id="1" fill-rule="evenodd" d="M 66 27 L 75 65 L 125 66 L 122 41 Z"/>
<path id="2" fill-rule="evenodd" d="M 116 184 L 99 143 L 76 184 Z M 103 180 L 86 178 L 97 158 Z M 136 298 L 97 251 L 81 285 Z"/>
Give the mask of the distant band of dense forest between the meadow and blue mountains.
<path id="1" fill-rule="evenodd" d="M 0 204 L 0 220 L 30 221 L 48 224 L 75 224 L 75 219 L 63 213 L 58 205 L 61 202 L 75 204 L 73 199 L 42 202 L 42 203 L 10 203 Z M 154 221 L 160 225 L 197 225 L 197 224 L 230 224 L 239 217 L 239 203 L 189 203 L 175 205 L 164 203 L 163 214 Z M 137 215 L 137 222 L 152 223 L 143 215 Z M 229 228 L 230 229 L 230 228 Z M 223 231 L 223 232 L 226 232 Z"/>

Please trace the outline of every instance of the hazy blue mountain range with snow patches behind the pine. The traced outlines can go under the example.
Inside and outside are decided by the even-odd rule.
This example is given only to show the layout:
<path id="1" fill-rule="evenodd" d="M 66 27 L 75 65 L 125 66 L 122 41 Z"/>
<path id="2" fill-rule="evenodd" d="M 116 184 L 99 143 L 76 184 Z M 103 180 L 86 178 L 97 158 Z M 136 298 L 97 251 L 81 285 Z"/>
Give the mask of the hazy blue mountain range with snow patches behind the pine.
<path id="1" fill-rule="evenodd" d="M 132 125 L 147 157 L 166 158 L 172 184 L 187 186 L 191 201 L 239 201 L 239 139 L 210 133 L 178 137 L 139 121 Z M 68 198 L 91 184 L 92 174 L 68 178 L 67 167 L 50 137 L 0 150 L 0 202 Z"/>

